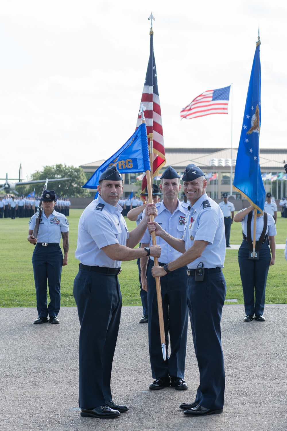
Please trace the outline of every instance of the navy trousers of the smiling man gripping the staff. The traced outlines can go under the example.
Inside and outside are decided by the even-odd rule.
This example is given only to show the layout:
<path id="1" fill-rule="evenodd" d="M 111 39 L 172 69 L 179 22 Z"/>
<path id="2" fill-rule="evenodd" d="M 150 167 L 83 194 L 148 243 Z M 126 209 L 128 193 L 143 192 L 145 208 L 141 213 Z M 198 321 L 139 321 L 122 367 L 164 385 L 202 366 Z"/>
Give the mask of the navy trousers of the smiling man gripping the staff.
<path id="1" fill-rule="evenodd" d="M 200 384 L 195 401 L 207 409 L 223 408 L 225 372 L 221 347 L 221 314 L 226 294 L 222 272 L 188 277 L 187 301 Z"/>

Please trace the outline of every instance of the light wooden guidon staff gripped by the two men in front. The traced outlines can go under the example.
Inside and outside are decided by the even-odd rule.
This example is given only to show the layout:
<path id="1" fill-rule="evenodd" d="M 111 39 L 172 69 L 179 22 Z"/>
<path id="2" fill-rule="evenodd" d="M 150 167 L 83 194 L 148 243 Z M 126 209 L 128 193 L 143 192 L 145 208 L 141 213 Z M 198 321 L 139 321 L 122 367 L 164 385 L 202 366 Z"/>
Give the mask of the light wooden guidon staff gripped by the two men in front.
<path id="1" fill-rule="evenodd" d="M 145 116 L 143 113 L 143 104 L 142 104 L 142 123 L 145 123 Z M 152 201 L 152 186 L 151 186 L 151 172 L 146 171 L 146 184 L 148 187 L 148 202 L 153 203 Z M 154 222 L 154 215 L 150 215 L 151 222 Z M 155 232 L 151 232 L 151 240 L 152 245 L 157 244 L 157 237 L 155 236 Z M 154 257 L 154 265 L 158 266 L 158 259 Z M 160 325 L 160 343 L 161 343 L 161 351 L 164 358 L 164 361 L 167 359 L 166 353 L 166 344 L 165 344 L 165 333 L 164 333 L 164 313 L 162 308 L 162 300 L 161 300 L 161 288 L 160 288 L 160 278 L 155 277 L 155 285 L 157 290 L 157 309 L 158 309 L 158 320 Z"/>

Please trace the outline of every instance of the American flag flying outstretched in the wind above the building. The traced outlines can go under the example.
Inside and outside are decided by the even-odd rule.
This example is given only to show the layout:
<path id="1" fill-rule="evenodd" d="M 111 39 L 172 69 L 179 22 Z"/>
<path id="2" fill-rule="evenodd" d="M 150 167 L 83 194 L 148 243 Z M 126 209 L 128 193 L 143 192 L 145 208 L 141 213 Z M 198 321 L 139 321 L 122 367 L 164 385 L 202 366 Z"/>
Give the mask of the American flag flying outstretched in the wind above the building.
<path id="1" fill-rule="evenodd" d="M 216 90 L 204 91 L 182 109 L 180 112 L 181 119 L 190 120 L 211 114 L 228 114 L 229 93 L 230 85 Z"/>

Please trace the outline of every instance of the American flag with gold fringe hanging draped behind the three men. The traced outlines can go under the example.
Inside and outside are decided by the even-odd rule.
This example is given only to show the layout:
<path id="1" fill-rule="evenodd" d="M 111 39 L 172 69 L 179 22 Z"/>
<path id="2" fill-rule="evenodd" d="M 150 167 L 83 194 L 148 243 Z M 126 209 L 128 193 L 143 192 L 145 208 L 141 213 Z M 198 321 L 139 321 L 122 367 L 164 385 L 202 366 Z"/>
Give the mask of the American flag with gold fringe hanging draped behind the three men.
<path id="1" fill-rule="evenodd" d="M 148 69 L 145 75 L 145 84 L 142 91 L 142 104 L 145 106 L 145 124 L 148 134 L 148 146 L 153 142 L 152 176 L 157 176 L 160 169 L 166 164 L 164 150 L 164 134 L 161 122 L 160 98 L 157 87 L 157 69 L 154 60 L 153 31 L 150 31 L 150 55 Z M 138 116 L 136 129 L 142 123 L 141 112 Z M 142 191 L 146 187 L 146 177 L 142 179 Z"/>

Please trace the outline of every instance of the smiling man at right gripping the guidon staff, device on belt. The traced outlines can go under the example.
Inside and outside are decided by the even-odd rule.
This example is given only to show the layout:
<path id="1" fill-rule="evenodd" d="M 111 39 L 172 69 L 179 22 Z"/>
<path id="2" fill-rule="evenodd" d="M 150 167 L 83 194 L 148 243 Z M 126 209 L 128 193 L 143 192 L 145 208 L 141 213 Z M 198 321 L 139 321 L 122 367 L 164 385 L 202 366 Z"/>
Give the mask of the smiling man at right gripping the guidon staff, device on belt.
<path id="1" fill-rule="evenodd" d="M 182 265 L 188 267 L 187 301 L 200 384 L 195 401 L 179 407 L 185 410 L 185 415 L 204 416 L 221 413 L 224 401 L 225 373 L 220 329 L 226 293 L 222 274 L 224 219 L 217 203 L 205 193 L 207 180 L 200 168 L 188 165 L 182 181 L 185 195 L 190 200 L 183 239 L 173 238 L 156 222 L 149 224 L 149 230 L 154 230 L 155 226 L 156 234 L 183 254 L 165 267 L 154 266 L 152 275 L 163 277 Z"/>

